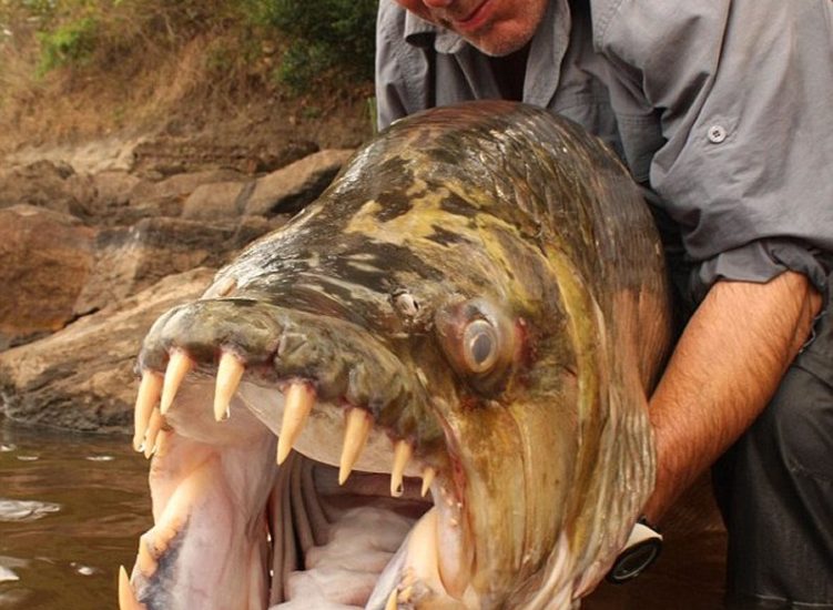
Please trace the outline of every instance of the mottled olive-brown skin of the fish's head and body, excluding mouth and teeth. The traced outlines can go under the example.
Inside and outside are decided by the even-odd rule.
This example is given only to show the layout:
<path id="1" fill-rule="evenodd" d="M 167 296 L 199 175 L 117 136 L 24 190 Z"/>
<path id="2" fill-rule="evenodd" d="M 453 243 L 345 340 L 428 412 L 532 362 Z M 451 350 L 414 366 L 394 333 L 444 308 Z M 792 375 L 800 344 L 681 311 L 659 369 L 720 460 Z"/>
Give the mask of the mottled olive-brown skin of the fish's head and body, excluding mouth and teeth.
<path id="1" fill-rule="evenodd" d="M 558 608 L 605 575 L 652 488 L 669 311 L 650 213 L 614 155 L 545 111 L 476 102 L 357 152 L 160 318 L 139 369 L 182 349 L 211 375 L 225 350 L 246 383 L 305 379 L 366 409 L 457 502 L 465 599 Z"/>

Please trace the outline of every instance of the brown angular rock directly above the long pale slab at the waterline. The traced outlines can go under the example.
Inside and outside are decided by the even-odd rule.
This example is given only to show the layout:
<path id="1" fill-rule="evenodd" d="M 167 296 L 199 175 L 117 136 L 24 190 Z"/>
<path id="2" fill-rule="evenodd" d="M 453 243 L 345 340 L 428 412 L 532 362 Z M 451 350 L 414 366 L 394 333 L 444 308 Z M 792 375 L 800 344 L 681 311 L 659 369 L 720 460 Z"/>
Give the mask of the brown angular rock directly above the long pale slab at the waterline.
<path id="1" fill-rule="evenodd" d="M 102 230 L 95 264 L 75 303 L 75 315 L 102 309 L 166 275 L 216 267 L 242 246 L 234 224 L 145 218 L 131 227 Z"/>

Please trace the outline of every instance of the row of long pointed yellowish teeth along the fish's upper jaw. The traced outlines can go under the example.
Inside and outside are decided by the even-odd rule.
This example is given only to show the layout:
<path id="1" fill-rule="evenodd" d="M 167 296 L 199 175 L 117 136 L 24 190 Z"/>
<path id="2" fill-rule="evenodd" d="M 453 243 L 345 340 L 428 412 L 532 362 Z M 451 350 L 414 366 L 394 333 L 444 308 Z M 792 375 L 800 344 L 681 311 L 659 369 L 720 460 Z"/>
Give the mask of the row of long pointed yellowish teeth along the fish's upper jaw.
<path id="1" fill-rule="evenodd" d="M 196 363 L 182 349 L 173 348 L 169 354 L 164 375 L 144 369 L 139 387 L 134 410 L 133 446 L 150 457 L 156 450 L 159 430 L 165 424 L 165 416 L 174 406 L 176 393 L 185 377 L 194 370 Z M 220 356 L 214 393 L 214 418 L 223 421 L 230 416 L 230 405 L 237 393 L 245 365 L 231 350 L 223 350 Z M 316 405 L 316 390 L 312 383 L 303 379 L 289 382 L 284 387 L 283 419 L 277 443 L 277 464 L 282 464 L 295 447 L 304 431 L 309 415 Z M 373 415 L 358 406 L 348 407 L 344 416 L 344 439 L 338 465 L 338 481 L 344 484 L 359 458 L 374 428 Z M 414 445 L 406 439 L 395 439 L 392 454 L 390 495 L 399 497 L 404 489 L 404 477 L 413 470 Z M 437 471 L 431 466 L 420 470 L 423 476 L 423 496 L 428 491 Z"/>

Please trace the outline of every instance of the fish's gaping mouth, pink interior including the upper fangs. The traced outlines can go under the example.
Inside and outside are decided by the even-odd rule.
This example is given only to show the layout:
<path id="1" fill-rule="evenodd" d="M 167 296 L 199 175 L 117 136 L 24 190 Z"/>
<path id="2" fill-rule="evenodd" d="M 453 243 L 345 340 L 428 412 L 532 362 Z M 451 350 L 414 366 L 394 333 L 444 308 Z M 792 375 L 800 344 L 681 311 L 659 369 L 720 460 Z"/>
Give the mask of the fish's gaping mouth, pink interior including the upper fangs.
<path id="1" fill-rule="evenodd" d="M 274 370 L 213 353 L 143 360 L 134 446 L 154 456 L 154 527 L 121 608 L 465 607 L 465 486 L 448 451 L 397 434 L 374 398 L 265 384 Z"/>

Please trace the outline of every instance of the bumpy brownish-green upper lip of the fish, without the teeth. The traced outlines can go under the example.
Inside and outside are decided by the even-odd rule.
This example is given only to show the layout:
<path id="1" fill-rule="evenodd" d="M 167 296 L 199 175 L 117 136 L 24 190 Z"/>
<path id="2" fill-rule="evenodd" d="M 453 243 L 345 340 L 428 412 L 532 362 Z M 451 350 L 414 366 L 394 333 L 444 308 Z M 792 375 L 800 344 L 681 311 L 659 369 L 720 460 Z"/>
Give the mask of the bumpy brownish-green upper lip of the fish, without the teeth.
<path id="1" fill-rule="evenodd" d="M 367 406 L 394 428 L 396 410 L 424 409 L 426 404 L 419 376 L 396 353 L 337 317 L 247 298 L 201 299 L 160 317 L 145 337 L 136 370 L 163 374 L 173 350 L 186 353 L 197 375 L 211 375 L 219 354 L 232 352 L 260 383 L 307 379 L 321 399 Z"/>

